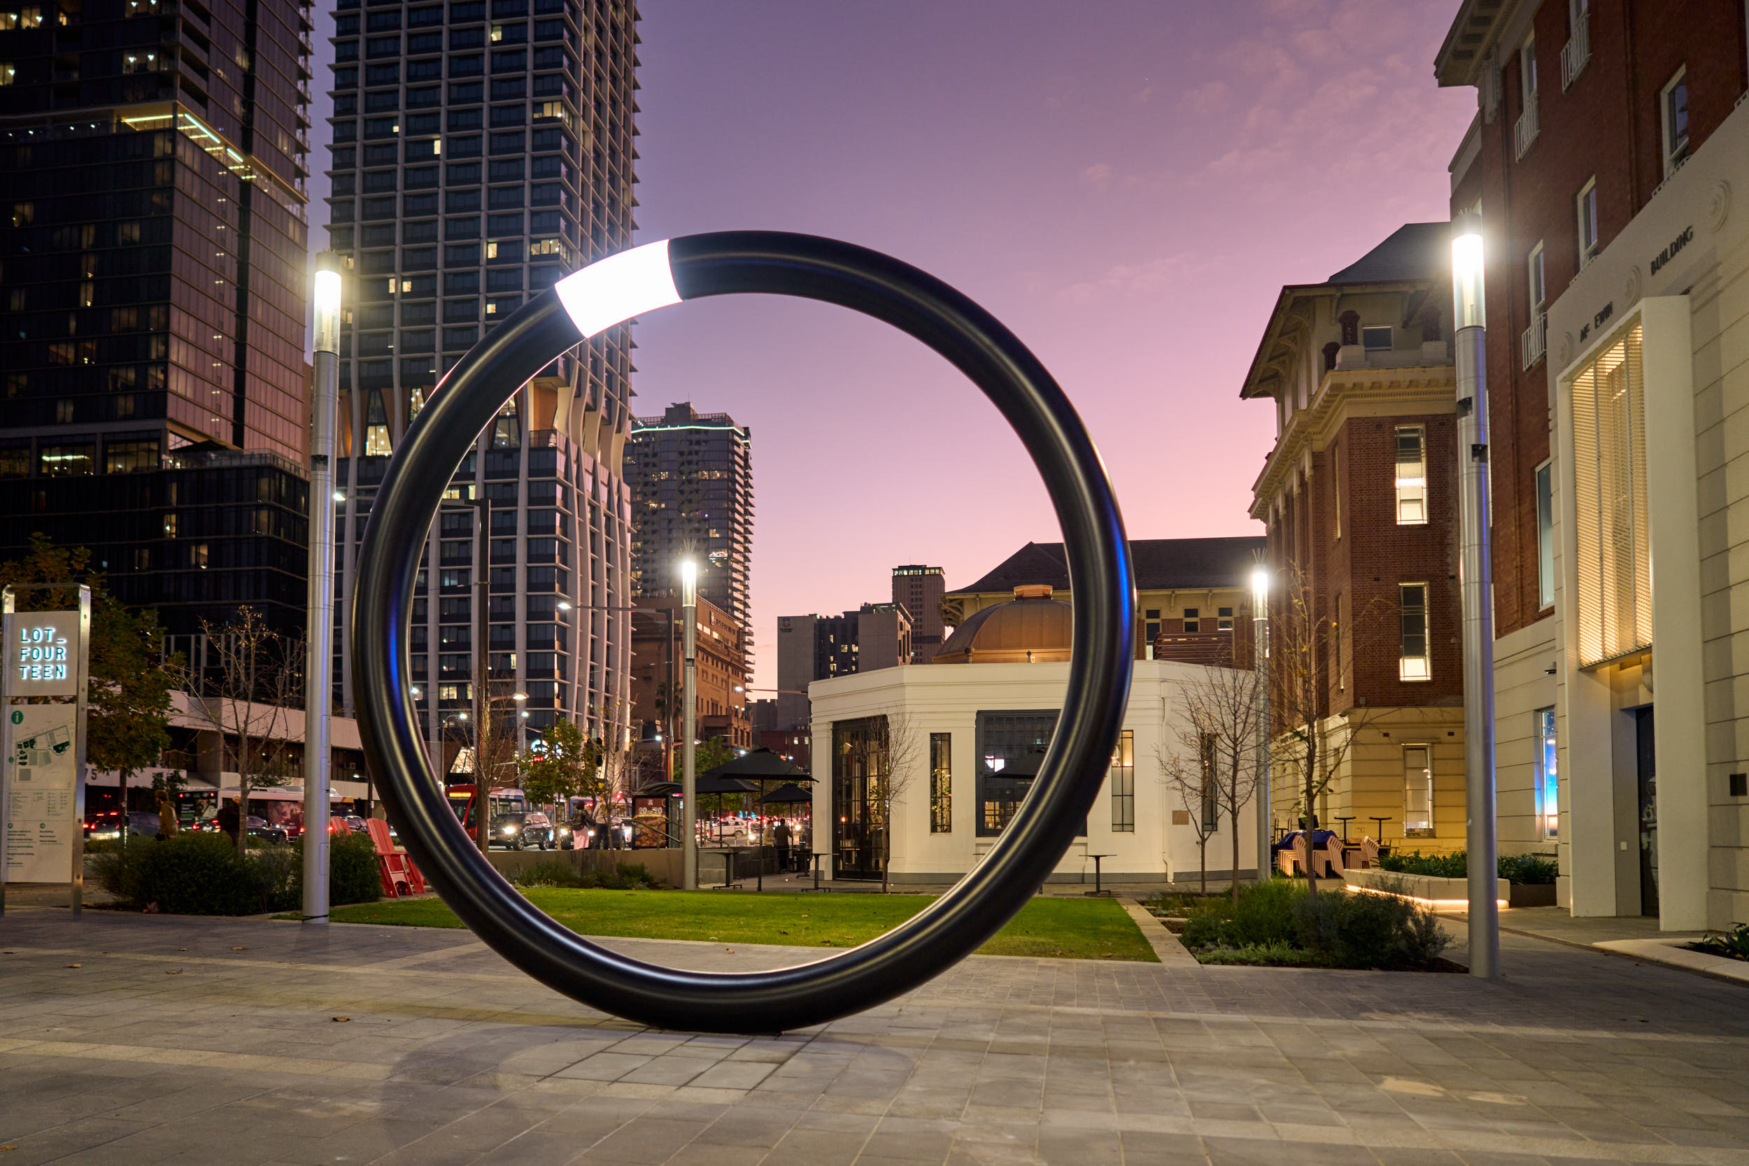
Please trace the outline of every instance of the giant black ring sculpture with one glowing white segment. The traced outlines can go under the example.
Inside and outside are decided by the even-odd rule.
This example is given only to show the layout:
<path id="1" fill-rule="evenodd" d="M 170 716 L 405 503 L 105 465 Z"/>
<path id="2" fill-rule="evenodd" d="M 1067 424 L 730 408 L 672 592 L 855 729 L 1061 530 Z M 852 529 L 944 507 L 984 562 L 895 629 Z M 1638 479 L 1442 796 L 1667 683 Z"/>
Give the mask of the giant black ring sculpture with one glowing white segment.
<path id="1" fill-rule="evenodd" d="M 430 769 L 408 682 L 413 584 L 439 495 L 479 432 L 560 353 L 656 308 L 764 292 L 841 304 L 929 344 L 1020 435 L 1063 528 L 1074 652 L 1034 788 L 990 855 L 908 923 L 861 947 L 773 972 L 680 972 L 598 947 L 528 904 L 479 853 Z M 806 234 L 693 234 L 610 255 L 535 295 L 437 386 L 383 477 L 353 589 L 359 729 L 388 813 L 444 902 L 498 954 L 582 1003 L 661 1028 L 775 1033 L 890 1000 L 993 935 L 1069 850 L 1098 795 L 1130 691 L 1135 593 L 1111 482 L 1044 365 L 941 280 Z"/>

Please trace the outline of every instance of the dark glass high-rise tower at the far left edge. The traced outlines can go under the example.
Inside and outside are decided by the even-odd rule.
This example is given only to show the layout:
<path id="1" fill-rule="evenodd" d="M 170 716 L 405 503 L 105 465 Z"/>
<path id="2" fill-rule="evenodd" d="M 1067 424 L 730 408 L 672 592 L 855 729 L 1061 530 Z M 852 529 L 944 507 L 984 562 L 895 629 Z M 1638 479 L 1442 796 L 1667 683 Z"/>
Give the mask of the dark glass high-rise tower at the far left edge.
<path id="1" fill-rule="evenodd" d="M 0 72 L 0 556 L 303 631 L 308 3 L 14 5 Z"/>

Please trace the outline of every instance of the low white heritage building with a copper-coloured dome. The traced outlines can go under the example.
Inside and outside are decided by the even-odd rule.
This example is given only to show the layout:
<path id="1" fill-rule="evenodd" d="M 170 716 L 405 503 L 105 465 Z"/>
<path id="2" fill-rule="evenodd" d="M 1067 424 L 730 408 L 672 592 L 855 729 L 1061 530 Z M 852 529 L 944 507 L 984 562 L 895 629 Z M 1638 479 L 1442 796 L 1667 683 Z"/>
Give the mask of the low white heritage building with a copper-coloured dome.
<path id="1" fill-rule="evenodd" d="M 1070 605 L 1051 587 L 1016 587 L 1014 598 L 969 615 L 930 666 L 881 668 L 815 680 L 815 848 L 829 878 L 880 878 L 876 743 L 890 734 L 902 771 L 892 811 L 895 883 L 951 883 L 995 844 L 1032 787 L 1069 687 Z M 955 666 L 965 664 L 965 666 Z M 1202 664 L 1135 661 L 1130 706 L 1104 788 L 1084 832 L 1051 881 L 1088 883 L 1093 857 L 1107 881 L 1198 878 L 1196 829 L 1161 773 L 1161 755 L 1182 748 L 1181 692 L 1207 677 Z M 1238 874 L 1256 874 L 1254 808 L 1238 816 Z M 1221 816 L 1209 839 L 1209 876 L 1233 867 L 1233 830 Z"/>

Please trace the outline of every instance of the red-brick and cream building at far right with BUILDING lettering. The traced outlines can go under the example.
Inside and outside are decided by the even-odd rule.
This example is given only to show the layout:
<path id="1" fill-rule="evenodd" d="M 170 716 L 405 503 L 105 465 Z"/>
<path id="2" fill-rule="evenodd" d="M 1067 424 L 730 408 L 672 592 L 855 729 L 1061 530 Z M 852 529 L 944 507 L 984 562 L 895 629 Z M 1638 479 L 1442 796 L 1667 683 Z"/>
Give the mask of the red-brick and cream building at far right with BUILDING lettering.
<path id="1" fill-rule="evenodd" d="M 1574 914 L 1726 927 L 1749 918 L 1742 5 L 1469 0 L 1436 73 L 1478 94 L 1452 208 L 1488 250 L 1501 848 L 1558 848 Z"/>

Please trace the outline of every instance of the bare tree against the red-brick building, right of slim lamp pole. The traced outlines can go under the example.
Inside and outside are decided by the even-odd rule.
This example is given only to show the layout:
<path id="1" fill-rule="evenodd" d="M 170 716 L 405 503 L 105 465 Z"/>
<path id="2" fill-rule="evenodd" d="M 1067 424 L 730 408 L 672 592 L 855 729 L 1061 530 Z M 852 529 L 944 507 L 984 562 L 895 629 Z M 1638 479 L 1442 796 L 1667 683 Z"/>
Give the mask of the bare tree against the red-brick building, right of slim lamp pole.
<path id="1" fill-rule="evenodd" d="M 1389 612 L 1382 600 L 1354 610 L 1345 654 L 1341 614 L 1317 594 L 1305 572 L 1291 566 L 1287 573 L 1282 607 L 1270 626 L 1272 753 L 1275 771 L 1293 774 L 1298 785 L 1296 809 L 1307 830 L 1307 886 L 1315 895 L 1312 829 L 1319 797 L 1341 773 L 1361 731 L 1385 711 L 1348 706 L 1340 698 L 1354 692 L 1352 661 L 1380 638 Z"/>

